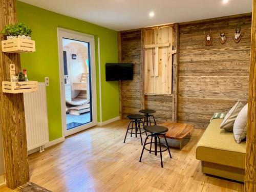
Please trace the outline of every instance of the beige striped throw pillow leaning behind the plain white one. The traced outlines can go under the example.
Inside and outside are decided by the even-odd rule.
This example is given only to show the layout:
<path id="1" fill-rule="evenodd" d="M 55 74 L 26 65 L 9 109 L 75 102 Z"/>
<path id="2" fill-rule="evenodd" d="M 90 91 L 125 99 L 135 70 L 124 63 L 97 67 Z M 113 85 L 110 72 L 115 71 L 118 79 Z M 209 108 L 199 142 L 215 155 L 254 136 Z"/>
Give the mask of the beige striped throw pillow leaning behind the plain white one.
<path id="1" fill-rule="evenodd" d="M 225 129 L 226 131 L 232 132 L 234 120 L 236 120 L 239 112 L 242 110 L 243 104 L 241 101 L 238 101 L 232 108 L 229 110 L 225 118 L 221 123 L 221 129 Z"/>

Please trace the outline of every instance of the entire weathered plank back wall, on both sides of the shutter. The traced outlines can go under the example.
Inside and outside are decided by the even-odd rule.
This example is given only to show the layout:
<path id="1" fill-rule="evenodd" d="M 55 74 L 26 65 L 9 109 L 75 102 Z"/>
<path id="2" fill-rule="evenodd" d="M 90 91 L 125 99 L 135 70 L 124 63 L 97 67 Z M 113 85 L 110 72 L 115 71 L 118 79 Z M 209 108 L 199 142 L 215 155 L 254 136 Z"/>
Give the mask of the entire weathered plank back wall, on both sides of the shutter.
<path id="1" fill-rule="evenodd" d="M 232 36 L 241 27 L 242 39 Z M 180 24 L 178 71 L 178 121 L 205 129 L 215 112 L 228 111 L 237 100 L 248 99 L 251 15 L 231 16 Z M 214 37 L 206 47 L 204 30 Z M 219 42 L 220 31 L 227 40 Z M 138 113 L 140 94 L 140 30 L 121 34 L 122 62 L 135 63 L 134 80 L 123 81 L 123 116 Z M 145 109 L 157 111 L 158 122 L 172 121 L 172 96 L 145 95 Z"/>

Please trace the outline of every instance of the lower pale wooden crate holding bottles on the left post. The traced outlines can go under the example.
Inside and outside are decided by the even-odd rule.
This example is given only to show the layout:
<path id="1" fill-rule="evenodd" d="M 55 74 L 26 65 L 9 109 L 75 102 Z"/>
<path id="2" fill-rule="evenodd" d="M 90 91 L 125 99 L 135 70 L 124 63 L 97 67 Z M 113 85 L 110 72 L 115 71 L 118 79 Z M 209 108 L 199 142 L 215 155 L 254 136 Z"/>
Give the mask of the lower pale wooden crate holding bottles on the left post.
<path id="1" fill-rule="evenodd" d="M 37 91 L 37 81 L 9 82 L 2 81 L 4 93 L 28 93 Z"/>

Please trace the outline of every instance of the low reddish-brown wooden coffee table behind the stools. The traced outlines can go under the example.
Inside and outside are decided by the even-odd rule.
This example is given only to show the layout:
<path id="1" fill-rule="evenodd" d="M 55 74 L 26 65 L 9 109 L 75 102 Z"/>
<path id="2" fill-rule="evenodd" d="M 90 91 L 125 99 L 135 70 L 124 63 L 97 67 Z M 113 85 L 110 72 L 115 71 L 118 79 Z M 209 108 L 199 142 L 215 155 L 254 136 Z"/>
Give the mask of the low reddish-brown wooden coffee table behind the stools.
<path id="1" fill-rule="evenodd" d="M 184 139 L 194 128 L 192 124 L 173 123 L 169 121 L 160 125 L 168 128 L 168 132 L 165 134 L 166 138 L 180 141 L 180 149 L 182 148 L 182 139 Z"/>

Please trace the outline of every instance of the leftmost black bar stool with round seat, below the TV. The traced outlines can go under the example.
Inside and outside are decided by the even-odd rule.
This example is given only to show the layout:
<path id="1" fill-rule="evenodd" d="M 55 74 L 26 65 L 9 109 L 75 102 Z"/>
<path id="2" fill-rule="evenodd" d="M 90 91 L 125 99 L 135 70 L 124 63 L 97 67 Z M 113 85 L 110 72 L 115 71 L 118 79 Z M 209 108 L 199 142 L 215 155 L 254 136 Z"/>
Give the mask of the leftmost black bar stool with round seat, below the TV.
<path id="1" fill-rule="evenodd" d="M 131 119 L 132 121 L 128 124 L 127 131 L 126 131 L 123 142 L 125 143 L 127 133 L 130 133 L 131 137 L 133 134 L 136 135 L 136 137 L 139 134 L 141 145 L 143 145 L 141 134 L 146 133 L 146 132 L 145 132 L 145 130 L 143 130 L 144 122 L 141 119 L 145 119 L 145 116 L 144 115 L 127 115 L 127 118 Z M 132 127 L 130 128 L 131 123 L 132 123 Z M 135 126 L 134 126 L 134 124 L 135 124 Z M 141 124 L 142 124 L 142 128 L 140 127 Z M 129 132 L 129 130 L 131 130 L 131 132 Z M 135 130 L 135 133 L 133 133 L 133 130 Z M 138 133 L 138 131 L 139 131 L 139 133 Z M 147 136 L 147 134 L 146 134 L 146 136 Z"/>

